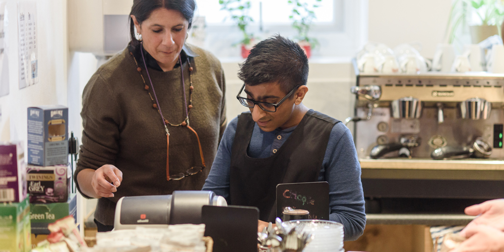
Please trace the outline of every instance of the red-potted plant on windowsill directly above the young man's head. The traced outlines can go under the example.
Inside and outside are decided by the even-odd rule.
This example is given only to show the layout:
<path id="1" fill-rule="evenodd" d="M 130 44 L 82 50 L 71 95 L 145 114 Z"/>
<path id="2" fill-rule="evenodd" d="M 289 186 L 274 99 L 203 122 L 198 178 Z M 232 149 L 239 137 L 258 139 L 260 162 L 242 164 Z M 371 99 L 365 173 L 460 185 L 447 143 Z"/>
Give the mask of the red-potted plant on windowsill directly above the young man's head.
<path id="1" fill-rule="evenodd" d="M 292 13 L 289 19 L 292 21 L 292 27 L 297 31 L 297 35 L 294 37 L 303 48 L 307 57 L 311 55 L 311 49 L 319 44 L 316 38 L 308 37 L 308 31 L 310 30 L 311 23 L 314 19 L 317 19 L 315 12 L 313 10 L 318 8 L 322 0 L 313 0 L 313 4 L 308 4 L 303 0 L 288 0 L 287 2 L 292 5 Z"/>

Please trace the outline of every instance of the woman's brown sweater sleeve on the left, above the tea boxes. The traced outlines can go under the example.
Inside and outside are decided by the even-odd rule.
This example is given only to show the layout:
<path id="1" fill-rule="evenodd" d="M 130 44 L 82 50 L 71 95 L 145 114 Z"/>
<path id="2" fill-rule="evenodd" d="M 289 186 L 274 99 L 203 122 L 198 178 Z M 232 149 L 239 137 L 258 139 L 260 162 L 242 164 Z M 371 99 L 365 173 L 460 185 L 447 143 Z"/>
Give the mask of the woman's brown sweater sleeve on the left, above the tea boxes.
<path id="1" fill-rule="evenodd" d="M 82 145 L 74 173 L 78 191 L 83 194 L 77 174 L 84 169 L 98 169 L 102 165 L 114 165 L 119 152 L 120 111 L 115 96 L 106 81 L 97 72 L 84 88 L 82 97 Z"/>

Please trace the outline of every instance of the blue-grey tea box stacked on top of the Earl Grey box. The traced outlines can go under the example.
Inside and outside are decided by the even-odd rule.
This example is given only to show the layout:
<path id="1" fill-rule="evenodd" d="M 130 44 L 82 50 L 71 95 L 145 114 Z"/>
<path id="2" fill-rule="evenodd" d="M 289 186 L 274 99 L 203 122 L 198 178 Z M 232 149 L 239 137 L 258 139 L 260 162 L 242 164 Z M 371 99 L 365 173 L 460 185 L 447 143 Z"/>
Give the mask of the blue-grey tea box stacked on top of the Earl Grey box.
<path id="1" fill-rule="evenodd" d="M 68 164 L 68 108 L 61 105 L 28 108 L 28 163 Z"/>

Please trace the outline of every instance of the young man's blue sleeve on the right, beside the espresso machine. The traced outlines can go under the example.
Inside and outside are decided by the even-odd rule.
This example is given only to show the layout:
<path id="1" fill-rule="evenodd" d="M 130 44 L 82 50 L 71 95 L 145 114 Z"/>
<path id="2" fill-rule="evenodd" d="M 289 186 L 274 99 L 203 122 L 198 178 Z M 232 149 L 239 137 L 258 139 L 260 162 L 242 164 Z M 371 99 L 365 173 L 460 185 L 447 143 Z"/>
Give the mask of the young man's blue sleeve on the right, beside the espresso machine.
<path id="1" fill-rule="evenodd" d="M 329 182 L 329 219 L 343 224 L 345 240 L 356 240 L 366 225 L 364 194 L 352 134 L 343 123 L 331 131 L 323 169 Z"/>

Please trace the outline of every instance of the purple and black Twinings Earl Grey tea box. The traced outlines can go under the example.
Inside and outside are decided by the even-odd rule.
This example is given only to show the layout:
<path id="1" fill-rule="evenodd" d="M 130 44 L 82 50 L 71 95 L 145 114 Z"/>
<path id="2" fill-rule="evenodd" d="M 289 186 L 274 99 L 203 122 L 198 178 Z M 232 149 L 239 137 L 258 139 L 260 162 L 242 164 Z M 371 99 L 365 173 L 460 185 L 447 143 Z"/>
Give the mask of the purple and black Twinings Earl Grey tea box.
<path id="1" fill-rule="evenodd" d="M 68 165 L 28 165 L 26 173 L 30 203 L 67 202 L 70 192 Z"/>

